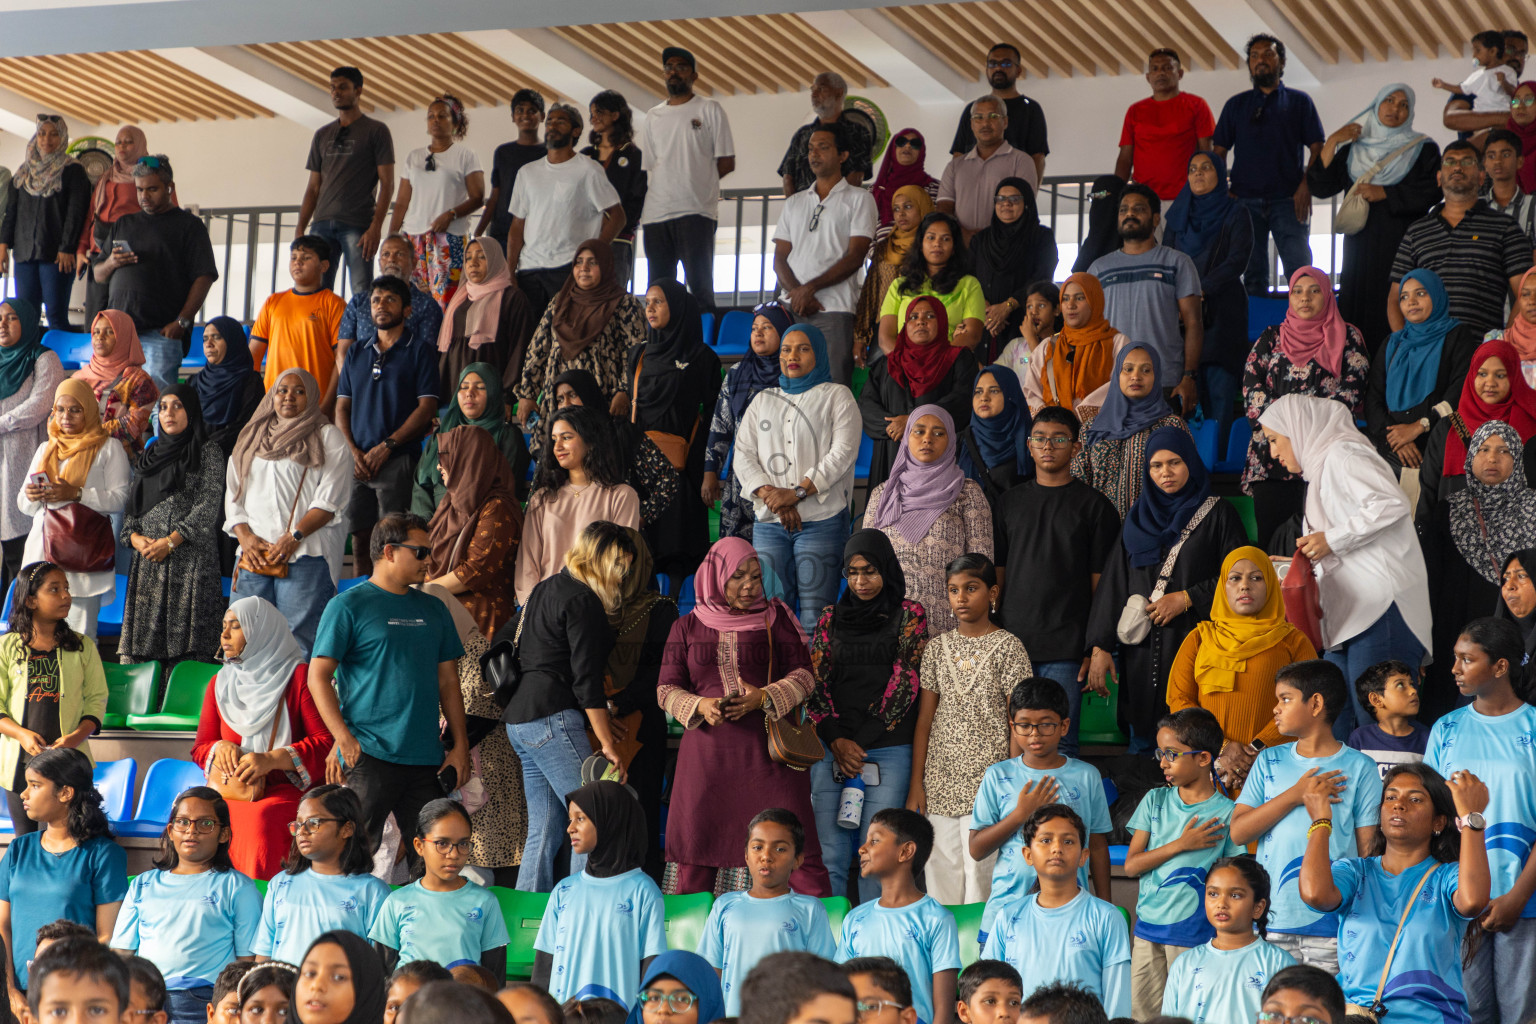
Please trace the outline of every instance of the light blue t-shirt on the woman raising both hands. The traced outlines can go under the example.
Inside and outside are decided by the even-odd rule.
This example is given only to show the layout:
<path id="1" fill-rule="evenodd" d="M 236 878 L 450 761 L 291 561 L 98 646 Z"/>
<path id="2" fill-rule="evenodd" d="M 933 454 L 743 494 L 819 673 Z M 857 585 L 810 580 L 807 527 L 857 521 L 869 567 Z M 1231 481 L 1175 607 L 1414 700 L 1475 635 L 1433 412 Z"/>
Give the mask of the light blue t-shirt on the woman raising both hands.
<path id="1" fill-rule="evenodd" d="M 1389 875 L 1379 857 L 1333 861 L 1333 884 L 1344 897 L 1339 904 L 1339 986 L 1347 1003 L 1370 1006 L 1376 999 L 1387 949 L 1425 870 L 1435 874 L 1424 883 L 1402 927 L 1381 1001 L 1393 1024 L 1465 1024 L 1461 944 L 1470 918 L 1464 918 L 1452 901 L 1456 864 L 1430 858 L 1401 875 Z M 1530 984 L 1530 978 L 1507 981 Z"/>

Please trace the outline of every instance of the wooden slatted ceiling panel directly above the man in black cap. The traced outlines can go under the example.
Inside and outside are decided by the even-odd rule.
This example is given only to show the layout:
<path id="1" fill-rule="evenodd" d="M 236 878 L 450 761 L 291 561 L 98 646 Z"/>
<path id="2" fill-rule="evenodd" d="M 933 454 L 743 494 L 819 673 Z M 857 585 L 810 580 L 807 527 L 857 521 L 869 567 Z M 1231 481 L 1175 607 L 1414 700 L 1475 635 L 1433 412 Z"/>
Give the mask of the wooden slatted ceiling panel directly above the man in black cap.
<path id="1" fill-rule="evenodd" d="M 662 86 L 662 49 L 685 46 L 699 61 L 696 92 L 805 92 L 820 71 L 849 89 L 886 81 L 796 14 L 751 14 L 677 21 L 625 21 L 554 28 L 567 41 L 651 89 Z M 763 55 L 771 54 L 770 58 Z"/>

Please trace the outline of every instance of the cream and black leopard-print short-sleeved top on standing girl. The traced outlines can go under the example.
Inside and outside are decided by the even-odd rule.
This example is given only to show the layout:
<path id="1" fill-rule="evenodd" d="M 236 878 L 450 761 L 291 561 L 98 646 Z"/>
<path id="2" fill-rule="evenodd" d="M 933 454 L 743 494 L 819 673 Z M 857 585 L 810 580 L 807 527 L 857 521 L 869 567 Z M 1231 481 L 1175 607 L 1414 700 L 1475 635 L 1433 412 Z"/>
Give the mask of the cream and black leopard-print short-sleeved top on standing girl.
<path id="1" fill-rule="evenodd" d="M 1029 654 L 1008 629 L 965 637 L 951 629 L 923 651 L 923 689 L 938 694 L 928 732 L 923 788 L 928 814 L 971 814 L 992 765 L 1008 760 L 1008 697 L 1034 676 Z"/>

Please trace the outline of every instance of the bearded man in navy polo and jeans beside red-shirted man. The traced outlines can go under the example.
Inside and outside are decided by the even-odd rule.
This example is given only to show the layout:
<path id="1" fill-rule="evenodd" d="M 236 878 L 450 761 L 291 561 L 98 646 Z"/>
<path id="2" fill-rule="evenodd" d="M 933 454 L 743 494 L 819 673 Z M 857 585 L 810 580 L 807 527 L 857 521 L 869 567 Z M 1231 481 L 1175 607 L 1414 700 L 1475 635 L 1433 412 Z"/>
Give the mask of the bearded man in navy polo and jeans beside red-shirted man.
<path id="1" fill-rule="evenodd" d="M 1284 43 L 1273 35 L 1255 35 L 1247 41 L 1247 61 L 1253 88 L 1221 107 L 1212 141 L 1218 158 L 1236 150 L 1232 195 L 1253 218 L 1253 252 L 1243 284 L 1249 295 L 1269 295 L 1272 233 L 1287 281 L 1312 263 L 1307 239 L 1312 192 L 1306 167 L 1321 152 L 1324 135 L 1312 97 L 1281 83 Z"/>

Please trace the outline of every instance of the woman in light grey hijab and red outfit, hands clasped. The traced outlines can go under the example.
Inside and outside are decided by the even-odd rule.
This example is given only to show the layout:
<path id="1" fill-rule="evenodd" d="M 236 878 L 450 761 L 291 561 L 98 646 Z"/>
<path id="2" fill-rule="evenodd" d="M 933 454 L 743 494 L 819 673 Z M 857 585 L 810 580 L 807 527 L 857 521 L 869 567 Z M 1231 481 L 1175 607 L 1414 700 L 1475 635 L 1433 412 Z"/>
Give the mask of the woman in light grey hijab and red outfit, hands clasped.
<path id="1" fill-rule="evenodd" d="M 309 692 L 309 663 L 283 613 L 261 597 L 240 597 L 224 613 L 223 668 L 203 695 L 192 760 L 209 786 L 261 789 L 230 803 L 229 857 L 252 878 L 272 878 L 290 855 L 289 823 L 300 794 L 326 777 L 332 738 Z M 324 930 L 324 929 L 321 929 Z M 293 960 L 303 946 L 286 950 Z"/>

